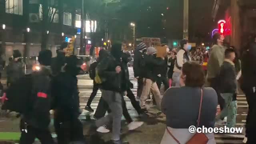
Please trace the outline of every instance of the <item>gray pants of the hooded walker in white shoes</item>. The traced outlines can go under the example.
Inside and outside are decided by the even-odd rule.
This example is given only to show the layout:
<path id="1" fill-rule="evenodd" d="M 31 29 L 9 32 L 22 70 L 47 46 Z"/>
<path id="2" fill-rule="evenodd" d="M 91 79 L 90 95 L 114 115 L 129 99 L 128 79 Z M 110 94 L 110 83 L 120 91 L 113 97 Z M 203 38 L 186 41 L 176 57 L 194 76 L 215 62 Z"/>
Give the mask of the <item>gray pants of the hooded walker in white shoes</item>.
<path id="1" fill-rule="evenodd" d="M 108 125 L 112 121 L 112 140 L 119 140 L 121 134 L 122 95 L 119 92 L 100 90 L 102 98 L 108 103 L 111 113 L 96 120 L 96 126 Z"/>

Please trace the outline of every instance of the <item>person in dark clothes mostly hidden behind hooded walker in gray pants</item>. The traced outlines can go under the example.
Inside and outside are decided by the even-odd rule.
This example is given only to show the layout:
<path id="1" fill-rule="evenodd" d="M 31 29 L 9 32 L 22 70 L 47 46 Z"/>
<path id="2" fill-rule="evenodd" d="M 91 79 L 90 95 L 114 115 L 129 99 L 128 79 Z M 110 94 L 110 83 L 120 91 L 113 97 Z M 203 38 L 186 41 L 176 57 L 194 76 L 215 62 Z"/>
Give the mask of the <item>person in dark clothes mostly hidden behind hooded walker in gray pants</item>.
<path id="1" fill-rule="evenodd" d="M 98 65 L 98 63 L 100 63 L 100 61 L 102 59 L 104 59 L 106 56 L 108 56 L 108 52 L 106 50 L 100 50 L 98 60 L 90 65 L 89 72 L 90 72 L 90 77 L 93 79 L 93 88 L 92 88 L 92 94 L 90 95 L 90 98 L 88 99 L 88 102 L 87 102 L 87 104 L 84 108 L 85 110 L 88 110 L 89 112 L 94 112 L 94 110 L 91 108 L 90 105 L 91 105 L 92 100 L 96 96 L 96 94 L 98 92 L 98 89 L 99 89 L 99 85 L 96 84 L 96 82 L 94 80 L 94 78 L 95 78 L 95 69 L 96 69 L 96 66 Z"/>

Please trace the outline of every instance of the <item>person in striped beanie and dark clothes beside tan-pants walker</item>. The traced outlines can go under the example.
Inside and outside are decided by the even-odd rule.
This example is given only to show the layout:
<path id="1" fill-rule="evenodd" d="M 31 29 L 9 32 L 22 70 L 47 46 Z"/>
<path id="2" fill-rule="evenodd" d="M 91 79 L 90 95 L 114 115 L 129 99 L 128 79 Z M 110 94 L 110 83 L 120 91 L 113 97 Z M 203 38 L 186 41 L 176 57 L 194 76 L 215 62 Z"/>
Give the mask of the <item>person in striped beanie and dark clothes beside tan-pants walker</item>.
<path id="1" fill-rule="evenodd" d="M 143 88 L 143 67 L 144 67 L 144 54 L 146 54 L 147 46 L 144 43 L 140 43 L 137 45 L 136 50 L 134 52 L 134 62 L 133 62 L 133 71 L 134 77 L 138 80 L 138 90 L 137 97 L 140 98 Z"/>

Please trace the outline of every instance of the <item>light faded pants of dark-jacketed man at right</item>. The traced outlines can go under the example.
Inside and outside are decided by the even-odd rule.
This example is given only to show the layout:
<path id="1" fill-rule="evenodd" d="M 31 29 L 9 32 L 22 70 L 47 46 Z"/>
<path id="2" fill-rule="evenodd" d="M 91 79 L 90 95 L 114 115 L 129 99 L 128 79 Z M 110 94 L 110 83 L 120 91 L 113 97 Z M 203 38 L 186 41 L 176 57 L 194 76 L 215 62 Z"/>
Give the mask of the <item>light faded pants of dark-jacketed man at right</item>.
<path id="1" fill-rule="evenodd" d="M 220 94 L 225 100 L 225 107 L 220 113 L 220 118 L 227 116 L 227 127 L 232 128 L 236 126 L 236 113 L 237 113 L 237 101 L 233 101 L 234 94 L 224 93 Z"/>

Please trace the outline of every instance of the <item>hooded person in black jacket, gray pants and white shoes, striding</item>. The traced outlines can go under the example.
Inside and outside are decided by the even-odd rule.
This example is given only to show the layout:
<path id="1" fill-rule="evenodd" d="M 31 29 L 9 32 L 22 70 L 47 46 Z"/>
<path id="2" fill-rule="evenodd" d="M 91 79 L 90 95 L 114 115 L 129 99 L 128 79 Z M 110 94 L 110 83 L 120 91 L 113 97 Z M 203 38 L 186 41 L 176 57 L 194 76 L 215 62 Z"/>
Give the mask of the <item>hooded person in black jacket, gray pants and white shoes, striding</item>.
<path id="1" fill-rule="evenodd" d="M 96 71 L 102 80 L 100 90 L 102 98 L 108 103 L 111 113 L 107 116 L 96 120 L 96 127 L 98 132 L 109 132 L 104 125 L 112 121 L 112 143 L 122 144 L 120 139 L 121 118 L 122 118 L 122 96 L 126 89 L 128 79 L 122 66 L 122 44 L 113 44 L 110 56 L 104 58 L 98 66 Z M 92 125 L 94 126 L 94 125 Z"/>

